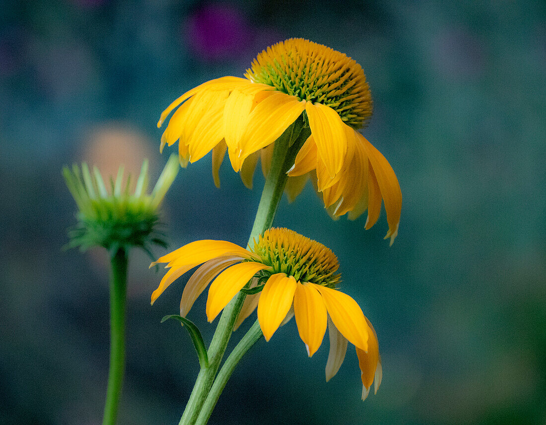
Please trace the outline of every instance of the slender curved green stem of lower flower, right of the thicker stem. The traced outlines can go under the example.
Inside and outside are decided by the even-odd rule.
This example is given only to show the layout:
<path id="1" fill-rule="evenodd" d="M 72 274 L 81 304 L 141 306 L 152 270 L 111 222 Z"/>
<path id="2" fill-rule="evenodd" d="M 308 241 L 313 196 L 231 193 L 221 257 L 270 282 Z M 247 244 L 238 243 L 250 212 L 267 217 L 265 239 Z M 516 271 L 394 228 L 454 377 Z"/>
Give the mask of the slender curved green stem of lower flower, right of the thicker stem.
<path id="1" fill-rule="evenodd" d="M 235 346 L 231 354 L 225 360 L 220 372 L 218 372 L 218 376 L 216 377 L 214 384 L 212 384 L 209 395 L 199 412 L 195 425 L 205 425 L 209 421 L 212 410 L 218 401 L 218 397 L 220 397 L 229 377 L 232 376 L 235 366 L 237 366 L 242 356 L 244 356 L 246 352 L 262 338 L 262 336 L 262 328 L 260 328 L 260 324 L 258 320 L 256 320 L 245 336 L 242 337 L 239 344 Z"/>

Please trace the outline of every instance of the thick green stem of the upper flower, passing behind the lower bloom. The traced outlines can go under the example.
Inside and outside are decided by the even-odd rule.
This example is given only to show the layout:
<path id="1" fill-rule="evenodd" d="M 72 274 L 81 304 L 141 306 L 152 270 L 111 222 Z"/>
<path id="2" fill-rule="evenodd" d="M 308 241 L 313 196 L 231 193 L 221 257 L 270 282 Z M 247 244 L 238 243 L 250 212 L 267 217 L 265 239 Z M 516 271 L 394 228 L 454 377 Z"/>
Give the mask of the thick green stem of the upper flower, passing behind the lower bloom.
<path id="1" fill-rule="evenodd" d="M 262 234 L 266 229 L 269 229 L 273 224 L 273 218 L 275 217 L 278 203 L 281 200 L 284 186 L 286 185 L 286 172 L 294 164 L 296 154 L 308 135 L 308 129 L 303 128 L 303 119 L 299 118 L 275 141 L 271 170 L 265 180 L 254 225 L 252 226 L 250 238 L 248 238 L 248 244 L 251 244 L 254 238 Z M 218 372 L 225 348 L 228 345 L 229 338 L 233 332 L 233 326 L 239 316 L 245 297 L 246 295 L 243 292 L 239 292 L 224 308 L 212 337 L 209 350 L 207 351 L 209 366 L 201 368 L 199 371 L 179 425 L 193 425 L 197 420 L 199 411 L 209 394 L 216 373 Z"/>

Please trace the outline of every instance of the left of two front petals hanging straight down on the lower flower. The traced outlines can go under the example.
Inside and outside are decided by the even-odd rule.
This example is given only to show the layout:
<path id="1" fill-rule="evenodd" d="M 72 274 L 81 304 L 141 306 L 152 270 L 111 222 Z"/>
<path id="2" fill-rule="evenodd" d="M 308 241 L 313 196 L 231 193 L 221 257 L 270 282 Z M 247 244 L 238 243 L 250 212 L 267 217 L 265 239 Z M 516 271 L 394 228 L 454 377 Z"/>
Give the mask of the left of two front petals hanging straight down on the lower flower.
<path id="1" fill-rule="evenodd" d="M 273 336 L 286 317 L 296 290 L 296 280 L 284 273 L 272 275 L 265 283 L 258 301 L 258 321 L 266 341 Z"/>

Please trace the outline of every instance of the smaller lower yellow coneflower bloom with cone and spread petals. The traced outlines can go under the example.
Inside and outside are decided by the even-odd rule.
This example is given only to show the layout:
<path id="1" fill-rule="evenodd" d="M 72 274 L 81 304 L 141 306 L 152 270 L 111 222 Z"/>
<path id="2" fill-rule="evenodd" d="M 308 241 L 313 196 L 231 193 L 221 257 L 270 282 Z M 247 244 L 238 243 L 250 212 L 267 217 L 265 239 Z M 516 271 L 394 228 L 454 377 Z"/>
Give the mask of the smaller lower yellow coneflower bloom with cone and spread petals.
<path id="1" fill-rule="evenodd" d="M 326 379 L 339 370 L 351 342 L 359 358 L 363 399 L 375 380 L 381 383 L 381 360 L 375 330 L 357 302 L 337 290 L 339 263 L 323 244 L 288 229 L 269 229 L 245 249 L 227 241 L 189 243 L 159 258 L 170 270 L 152 294 L 152 303 L 182 274 L 202 264 L 189 278 L 180 301 L 186 316 L 197 297 L 210 284 L 206 302 L 209 321 L 241 290 L 247 291 L 235 327 L 254 309 L 266 340 L 295 316 L 301 340 L 311 357 L 329 330 L 330 354 Z M 213 281 L 213 282 L 212 282 Z M 212 282 L 212 283 L 211 283 Z"/>

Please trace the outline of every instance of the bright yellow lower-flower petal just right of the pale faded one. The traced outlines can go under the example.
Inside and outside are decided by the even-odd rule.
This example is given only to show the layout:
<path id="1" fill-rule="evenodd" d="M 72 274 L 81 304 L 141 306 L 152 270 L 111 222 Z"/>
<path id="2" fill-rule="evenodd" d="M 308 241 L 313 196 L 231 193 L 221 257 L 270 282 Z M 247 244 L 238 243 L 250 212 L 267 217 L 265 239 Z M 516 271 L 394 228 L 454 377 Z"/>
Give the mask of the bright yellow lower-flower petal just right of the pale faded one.
<path id="1" fill-rule="evenodd" d="M 224 270 L 211 283 L 206 300 L 206 316 L 212 322 L 219 312 L 228 305 L 254 274 L 268 268 L 258 262 L 242 262 Z"/>

